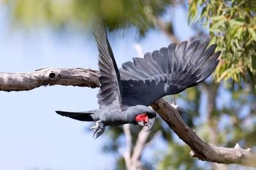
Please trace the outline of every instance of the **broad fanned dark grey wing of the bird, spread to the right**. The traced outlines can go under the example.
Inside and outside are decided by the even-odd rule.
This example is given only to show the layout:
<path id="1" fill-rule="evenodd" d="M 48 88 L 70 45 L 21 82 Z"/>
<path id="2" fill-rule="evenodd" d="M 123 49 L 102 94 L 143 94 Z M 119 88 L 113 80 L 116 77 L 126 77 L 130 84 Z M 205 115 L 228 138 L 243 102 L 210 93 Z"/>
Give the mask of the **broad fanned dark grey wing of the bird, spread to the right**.
<path id="1" fill-rule="evenodd" d="M 120 68 L 124 104 L 150 105 L 165 95 L 180 93 L 204 81 L 218 65 L 220 51 L 208 42 L 170 44 Z"/>

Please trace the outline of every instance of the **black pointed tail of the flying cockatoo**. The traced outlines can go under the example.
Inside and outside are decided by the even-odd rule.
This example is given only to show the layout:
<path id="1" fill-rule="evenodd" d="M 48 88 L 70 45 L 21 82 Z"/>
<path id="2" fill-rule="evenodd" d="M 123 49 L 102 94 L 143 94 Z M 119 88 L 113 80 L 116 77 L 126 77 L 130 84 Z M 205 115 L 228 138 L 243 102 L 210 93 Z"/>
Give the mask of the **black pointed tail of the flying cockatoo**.
<path id="1" fill-rule="evenodd" d="M 67 116 L 68 118 L 72 118 L 74 120 L 80 121 L 97 121 L 95 120 L 95 111 L 87 111 L 87 112 L 64 112 L 64 111 L 56 111 L 56 113 L 61 116 Z"/>

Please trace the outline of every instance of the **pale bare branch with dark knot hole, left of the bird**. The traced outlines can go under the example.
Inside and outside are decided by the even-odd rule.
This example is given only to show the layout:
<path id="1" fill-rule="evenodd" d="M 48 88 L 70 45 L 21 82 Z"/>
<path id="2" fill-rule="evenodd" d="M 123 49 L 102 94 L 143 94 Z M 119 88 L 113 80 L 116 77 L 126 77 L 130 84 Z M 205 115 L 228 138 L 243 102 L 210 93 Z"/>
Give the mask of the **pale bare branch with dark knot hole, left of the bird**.
<path id="1" fill-rule="evenodd" d="M 42 68 L 35 72 L 0 72 L 0 90 L 23 91 L 51 85 L 99 87 L 98 72 L 84 68 Z"/>

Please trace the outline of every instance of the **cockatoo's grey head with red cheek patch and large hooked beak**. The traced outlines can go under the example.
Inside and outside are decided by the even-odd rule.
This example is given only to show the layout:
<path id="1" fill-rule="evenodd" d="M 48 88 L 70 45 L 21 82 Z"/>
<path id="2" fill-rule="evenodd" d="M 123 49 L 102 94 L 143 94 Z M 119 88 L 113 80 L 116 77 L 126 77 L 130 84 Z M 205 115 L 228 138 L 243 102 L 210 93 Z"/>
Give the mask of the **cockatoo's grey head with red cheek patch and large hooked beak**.
<path id="1" fill-rule="evenodd" d="M 136 114 L 134 116 L 134 121 L 147 130 L 151 130 L 155 124 L 156 112 L 145 105 L 134 106 L 134 111 Z"/>

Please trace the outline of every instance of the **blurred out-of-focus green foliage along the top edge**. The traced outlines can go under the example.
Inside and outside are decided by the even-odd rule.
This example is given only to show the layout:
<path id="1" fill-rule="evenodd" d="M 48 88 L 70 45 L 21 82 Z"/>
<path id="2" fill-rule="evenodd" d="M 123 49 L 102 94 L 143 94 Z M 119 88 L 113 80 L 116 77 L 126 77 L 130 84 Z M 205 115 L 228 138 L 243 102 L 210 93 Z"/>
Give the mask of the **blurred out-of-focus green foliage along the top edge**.
<path id="1" fill-rule="evenodd" d="M 23 26 L 67 24 L 88 26 L 100 17 L 110 29 L 134 26 L 143 35 L 154 27 L 154 17 L 162 15 L 172 0 L 15 0 L 7 1 L 15 21 Z"/>

